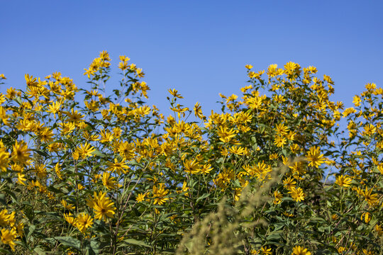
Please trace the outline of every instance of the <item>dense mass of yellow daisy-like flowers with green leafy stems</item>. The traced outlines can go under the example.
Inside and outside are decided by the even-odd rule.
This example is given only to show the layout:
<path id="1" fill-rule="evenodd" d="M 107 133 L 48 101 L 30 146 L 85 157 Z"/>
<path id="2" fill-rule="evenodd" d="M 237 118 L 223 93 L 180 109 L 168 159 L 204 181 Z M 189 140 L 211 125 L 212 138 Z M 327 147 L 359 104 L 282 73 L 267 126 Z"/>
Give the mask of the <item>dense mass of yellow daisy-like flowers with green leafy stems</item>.
<path id="1" fill-rule="evenodd" d="M 220 94 L 220 113 L 184 106 L 169 89 L 173 114 L 164 116 L 145 103 L 143 69 L 119 60 L 111 95 L 106 51 L 85 69 L 88 86 L 60 72 L 26 74 L 25 90 L 0 94 L 2 251 L 379 252 L 382 88 L 367 84 L 345 108 L 316 67 L 248 64 L 248 84 Z M 218 212 L 230 237 L 214 238 L 214 220 L 196 235 L 197 223 Z M 198 245 L 188 245 L 188 233 Z"/>

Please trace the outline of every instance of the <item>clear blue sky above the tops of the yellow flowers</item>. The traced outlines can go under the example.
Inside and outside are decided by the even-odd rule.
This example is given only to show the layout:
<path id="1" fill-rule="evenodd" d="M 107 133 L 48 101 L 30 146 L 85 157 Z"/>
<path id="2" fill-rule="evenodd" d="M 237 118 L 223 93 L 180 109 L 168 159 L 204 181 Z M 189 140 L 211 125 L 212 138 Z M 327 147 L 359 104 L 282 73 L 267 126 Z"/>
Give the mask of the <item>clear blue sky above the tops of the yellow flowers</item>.
<path id="1" fill-rule="evenodd" d="M 0 88 L 24 74 L 62 72 L 79 87 L 102 50 L 127 55 L 170 113 L 167 89 L 190 108 L 218 111 L 218 92 L 240 94 L 245 64 L 293 61 L 335 81 L 333 101 L 351 106 L 367 82 L 383 81 L 383 1 L 0 1 Z M 114 73 L 118 69 L 113 69 Z M 113 84 L 109 84 L 113 86 Z M 110 87 L 111 89 L 111 87 Z"/>

